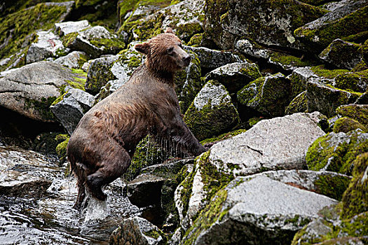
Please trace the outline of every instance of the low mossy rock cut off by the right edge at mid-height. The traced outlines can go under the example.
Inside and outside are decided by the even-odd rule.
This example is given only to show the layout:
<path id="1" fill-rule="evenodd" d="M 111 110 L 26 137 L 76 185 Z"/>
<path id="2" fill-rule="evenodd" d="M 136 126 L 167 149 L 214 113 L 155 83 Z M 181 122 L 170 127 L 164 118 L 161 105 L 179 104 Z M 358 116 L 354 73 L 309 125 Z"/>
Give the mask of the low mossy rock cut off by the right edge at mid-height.
<path id="1" fill-rule="evenodd" d="M 368 127 L 368 106 L 359 104 L 348 104 L 339 106 L 336 109 L 336 114 L 343 117 L 353 118 L 359 123 Z"/>

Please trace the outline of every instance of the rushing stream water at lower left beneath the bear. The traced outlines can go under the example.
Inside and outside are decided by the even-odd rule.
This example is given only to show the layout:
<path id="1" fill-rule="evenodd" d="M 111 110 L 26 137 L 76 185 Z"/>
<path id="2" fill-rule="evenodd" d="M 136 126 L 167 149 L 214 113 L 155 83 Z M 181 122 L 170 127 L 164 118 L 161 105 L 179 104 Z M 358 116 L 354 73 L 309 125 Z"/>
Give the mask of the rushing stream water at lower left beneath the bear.
<path id="1" fill-rule="evenodd" d="M 39 153 L 0 146 L 0 244 L 109 244 L 123 218 L 142 212 L 124 195 L 121 179 L 105 190 L 107 202 L 91 199 L 83 213 L 72 209 L 77 190 L 65 169 Z M 52 182 L 42 195 L 34 190 L 40 179 Z M 20 194 L 4 195 L 7 188 Z"/>

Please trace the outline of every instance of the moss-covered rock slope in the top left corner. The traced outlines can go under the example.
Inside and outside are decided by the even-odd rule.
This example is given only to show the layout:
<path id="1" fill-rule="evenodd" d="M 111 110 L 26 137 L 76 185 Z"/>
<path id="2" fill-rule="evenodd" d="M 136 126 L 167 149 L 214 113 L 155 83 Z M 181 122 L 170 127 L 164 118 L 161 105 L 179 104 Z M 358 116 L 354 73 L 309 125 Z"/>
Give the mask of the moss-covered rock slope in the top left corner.
<path id="1" fill-rule="evenodd" d="M 25 58 L 16 59 L 16 57 L 21 57 L 17 55 L 19 52 L 27 52 L 34 30 L 51 29 L 55 22 L 64 20 L 70 8 L 70 3 L 39 3 L 0 18 L 0 43 L 4 45 L 0 49 L 0 57 L 11 58 L 11 62 L 0 66 L 0 71 L 4 71 L 14 62 L 18 64 L 12 65 L 12 68 L 24 65 Z"/>

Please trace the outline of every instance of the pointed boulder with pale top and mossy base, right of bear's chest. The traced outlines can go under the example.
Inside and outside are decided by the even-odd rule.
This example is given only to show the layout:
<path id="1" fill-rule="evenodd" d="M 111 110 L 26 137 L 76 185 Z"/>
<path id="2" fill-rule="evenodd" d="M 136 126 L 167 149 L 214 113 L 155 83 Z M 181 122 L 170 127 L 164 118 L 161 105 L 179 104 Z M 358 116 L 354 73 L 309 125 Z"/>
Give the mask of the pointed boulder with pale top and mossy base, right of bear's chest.
<path id="1" fill-rule="evenodd" d="M 198 140 L 203 140 L 231 130 L 240 119 L 224 85 L 210 80 L 189 106 L 184 122 Z"/>

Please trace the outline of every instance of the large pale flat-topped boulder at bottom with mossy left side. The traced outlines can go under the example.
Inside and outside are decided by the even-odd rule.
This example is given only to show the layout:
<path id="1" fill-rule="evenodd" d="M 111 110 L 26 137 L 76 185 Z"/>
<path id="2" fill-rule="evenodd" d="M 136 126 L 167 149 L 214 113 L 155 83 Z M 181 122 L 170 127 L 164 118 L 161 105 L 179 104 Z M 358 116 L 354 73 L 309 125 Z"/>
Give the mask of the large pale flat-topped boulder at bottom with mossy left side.
<path id="1" fill-rule="evenodd" d="M 257 205 L 254 205 L 257 203 Z M 264 176 L 237 178 L 215 195 L 186 233 L 188 244 L 287 244 L 336 200 Z"/>

